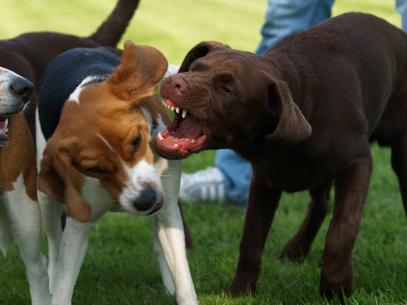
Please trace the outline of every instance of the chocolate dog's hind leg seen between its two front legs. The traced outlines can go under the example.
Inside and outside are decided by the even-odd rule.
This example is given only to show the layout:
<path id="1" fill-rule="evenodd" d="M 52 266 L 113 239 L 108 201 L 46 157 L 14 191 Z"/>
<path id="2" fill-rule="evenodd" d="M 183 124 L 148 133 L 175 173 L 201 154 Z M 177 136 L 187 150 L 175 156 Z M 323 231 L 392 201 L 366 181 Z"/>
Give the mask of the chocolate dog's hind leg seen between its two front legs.
<path id="1" fill-rule="evenodd" d="M 321 186 L 309 190 L 311 201 L 308 204 L 307 216 L 297 232 L 280 252 L 279 258 L 300 259 L 308 255 L 312 241 L 321 227 L 328 212 L 329 191 L 333 180 L 328 180 Z"/>

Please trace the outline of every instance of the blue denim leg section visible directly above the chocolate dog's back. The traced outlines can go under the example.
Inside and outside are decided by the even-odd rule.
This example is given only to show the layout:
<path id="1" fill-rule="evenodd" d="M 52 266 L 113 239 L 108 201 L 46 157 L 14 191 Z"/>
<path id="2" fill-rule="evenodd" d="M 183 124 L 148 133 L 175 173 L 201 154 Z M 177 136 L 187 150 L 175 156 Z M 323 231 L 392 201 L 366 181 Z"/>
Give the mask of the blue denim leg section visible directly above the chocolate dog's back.
<path id="1" fill-rule="evenodd" d="M 331 17 L 334 0 L 269 0 L 263 37 L 256 53 L 263 54 L 284 36 L 308 29 Z"/>

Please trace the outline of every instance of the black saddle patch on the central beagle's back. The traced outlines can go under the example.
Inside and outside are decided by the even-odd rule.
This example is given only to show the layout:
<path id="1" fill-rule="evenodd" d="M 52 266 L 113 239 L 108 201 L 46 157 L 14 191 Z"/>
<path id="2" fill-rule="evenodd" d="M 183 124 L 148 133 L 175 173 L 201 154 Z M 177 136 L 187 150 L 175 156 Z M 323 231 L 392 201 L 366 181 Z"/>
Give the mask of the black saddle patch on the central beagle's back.
<path id="1" fill-rule="evenodd" d="M 38 113 L 41 130 L 48 140 L 58 122 L 64 103 L 87 77 L 104 81 L 120 64 L 120 57 L 99 49 L 75 48 L 57 56 L 46 68 L 40 81 Z M 64 84 L 55 86 L 51 84 Z"/>

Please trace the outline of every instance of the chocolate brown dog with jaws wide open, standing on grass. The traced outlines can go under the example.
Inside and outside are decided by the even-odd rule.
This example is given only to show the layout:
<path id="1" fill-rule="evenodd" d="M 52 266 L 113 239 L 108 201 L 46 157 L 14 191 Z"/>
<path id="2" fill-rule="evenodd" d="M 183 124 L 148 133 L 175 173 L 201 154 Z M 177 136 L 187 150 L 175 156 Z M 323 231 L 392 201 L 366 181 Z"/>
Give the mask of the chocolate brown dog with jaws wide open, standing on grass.
<path id="1" fill-rule="evenodd" d="M 264 56 L 200 43 L 164 81 L 164 103 L 178 114 L 155 140 L 161 156 L 231 148 L 253 167 L 231 293 L 254 292 L 281 193 L 311 195 L 301 229 L 281 253 L 298 258 L 309 252 L 334 184 L 319 292 L 352 294 L 352 250 L 372 171 L 369 142 L 392 148 L 407 209 L 406 71 L 407 35 L 349 13 L 286 37 Z"/>

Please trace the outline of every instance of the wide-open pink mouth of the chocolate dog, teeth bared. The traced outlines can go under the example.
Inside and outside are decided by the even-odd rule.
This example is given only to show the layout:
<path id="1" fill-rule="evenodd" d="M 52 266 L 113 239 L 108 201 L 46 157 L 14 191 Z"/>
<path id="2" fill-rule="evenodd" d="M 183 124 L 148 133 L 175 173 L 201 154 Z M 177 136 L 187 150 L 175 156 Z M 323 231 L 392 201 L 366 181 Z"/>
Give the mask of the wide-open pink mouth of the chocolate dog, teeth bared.
<path id="1" fill-rule="evenodd" d="M 201 149 L 208 139 L 203 124 L 169 99 L 164 98 L 163 104 L 175 112 L 175 117 L 167 130 L 157 135 L 157 152 L 164 158 L 184 159 Z"/>

